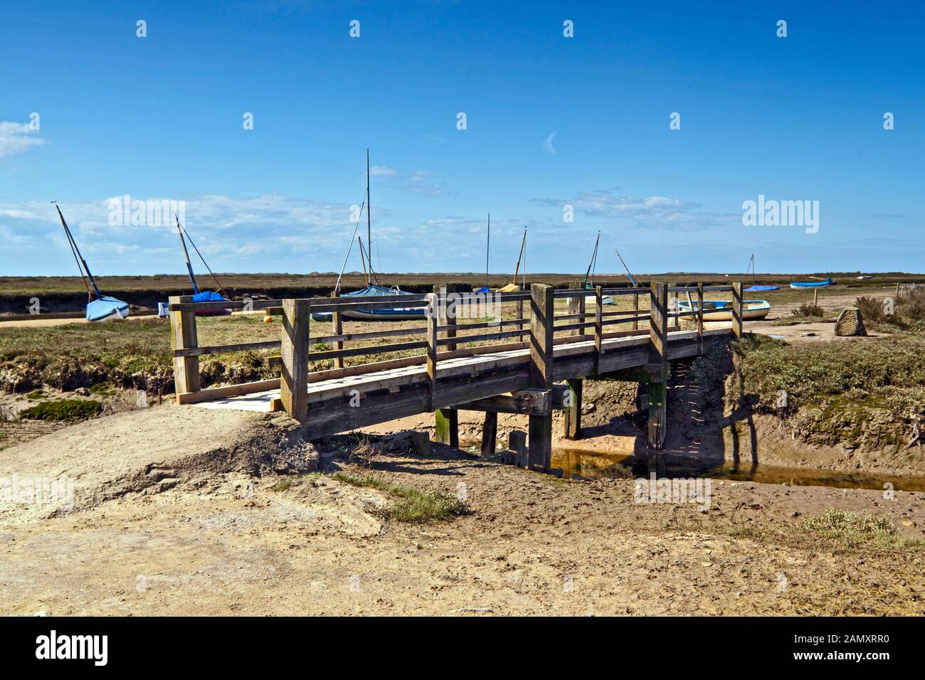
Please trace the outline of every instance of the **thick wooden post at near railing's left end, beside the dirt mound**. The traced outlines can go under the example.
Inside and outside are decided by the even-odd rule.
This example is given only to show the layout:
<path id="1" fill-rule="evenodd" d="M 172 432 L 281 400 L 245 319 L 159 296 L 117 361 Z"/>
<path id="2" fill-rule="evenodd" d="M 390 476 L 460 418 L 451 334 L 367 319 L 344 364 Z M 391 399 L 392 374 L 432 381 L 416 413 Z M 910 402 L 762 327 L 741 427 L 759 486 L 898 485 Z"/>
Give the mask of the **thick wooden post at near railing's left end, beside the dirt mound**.
<path id="1" fill-rule="evenodd" d="M 308 419 L 308 324 L 311 312 L 307 300 L 283 300 L 279 399 L 286 413 L 300 423 Z"/>

